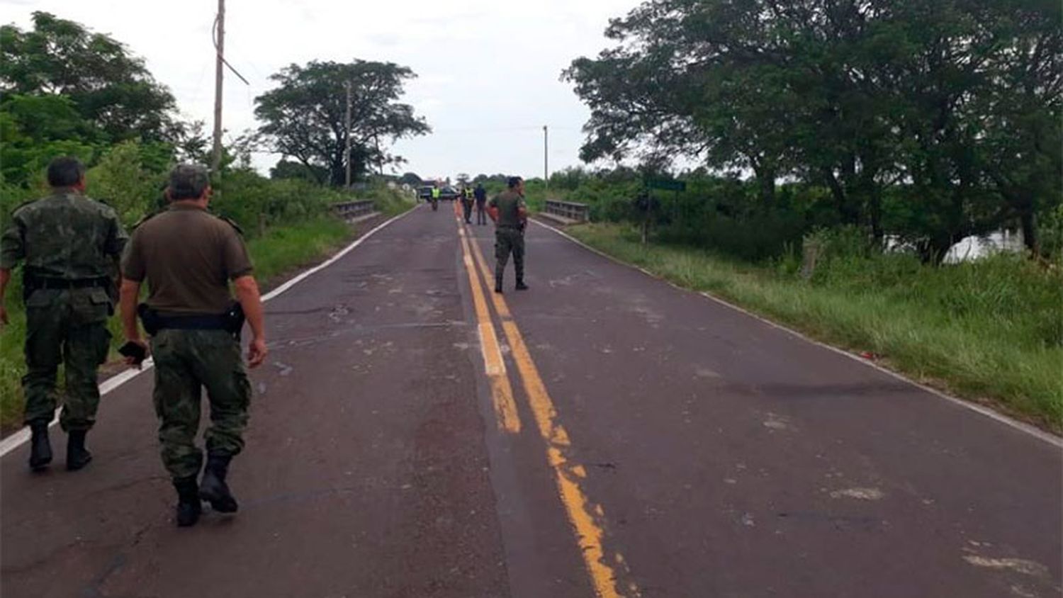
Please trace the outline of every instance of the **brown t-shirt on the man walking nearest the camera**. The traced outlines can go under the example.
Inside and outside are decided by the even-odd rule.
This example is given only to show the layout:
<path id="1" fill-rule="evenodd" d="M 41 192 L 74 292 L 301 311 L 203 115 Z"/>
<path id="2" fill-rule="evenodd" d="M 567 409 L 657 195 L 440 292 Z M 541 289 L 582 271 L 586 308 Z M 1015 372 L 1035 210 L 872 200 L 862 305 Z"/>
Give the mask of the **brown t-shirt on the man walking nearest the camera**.
<path id="1" fill-rule="evenodd" d="M 229 281 L 251 270 L 236 228 L 186 205 L 140 224 L 122 259 L 122 276 L 147 278 L 148 305 L 163 313 L 223 313 L 233 304 Z"/>

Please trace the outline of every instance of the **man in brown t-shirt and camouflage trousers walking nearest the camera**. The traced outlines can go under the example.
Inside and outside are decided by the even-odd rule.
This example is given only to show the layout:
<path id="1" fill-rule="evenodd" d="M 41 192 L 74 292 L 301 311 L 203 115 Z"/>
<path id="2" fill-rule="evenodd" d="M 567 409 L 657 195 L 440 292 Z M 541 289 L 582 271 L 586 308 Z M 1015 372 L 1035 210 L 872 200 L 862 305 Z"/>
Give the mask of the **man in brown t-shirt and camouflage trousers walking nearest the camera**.
<path id="1" fill-rule="evenodd" d="M 225 476 L 230 461 L 243 448 L 251 399 L 240 360 L 244 314 L 252 334 L 248 364 L 261 364 L 267 348 L 258 285 L 239 229 L 206 211 L 210 200 L 206 169 L 174 168 L 166 197 L 169 209 L 142 222 L 125 252 L 121 312 L 130 343 L 147 348 L 137 329 L 138 310 L 151 335 L 158 441 L 178 491 L 178 525 L 185 527 L 199 520 L 201 498 L 221 513 L 237 510 Z M 148 301 L 137 308 L 145 279 Z M 133 358 L 129 362 L 136 363 Z M 196 446 L 201 387 L 206 387 L 210 401 L 210 427 L 205 434 L 206 467 L 197 484 L 203 464 Z"/>

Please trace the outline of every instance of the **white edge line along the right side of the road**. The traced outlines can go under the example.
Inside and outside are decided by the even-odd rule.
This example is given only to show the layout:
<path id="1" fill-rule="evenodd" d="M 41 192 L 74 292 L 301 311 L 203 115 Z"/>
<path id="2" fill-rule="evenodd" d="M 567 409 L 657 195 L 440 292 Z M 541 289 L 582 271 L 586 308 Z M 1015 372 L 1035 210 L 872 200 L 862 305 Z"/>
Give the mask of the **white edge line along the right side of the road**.
<path id="1" fill-rule="evenodd" d="M 704 296 L 705 298 L 711 300 L 711 301 L 713 301 L 715 303 L 719 303 L 721 305 L 729 307 L 729 308 L 731 308 L 731 309 L 733 309 L 736 311 L 739 311 L 741 313 L 744 313 L 745 315 L 748 315 L 749 318 L 754 318 L 756 320 L 759 320 L 760 322 L 763 322 L 764 324 L 767 324 L 769 326 L 771 326 L 773 328 L 777 328 L 779 330 L 782 330 L 784 332 L 793 335 L 794 337 L 797 337 L 798 339 L 802 339 L 804 341 L 810 342 L 810 343 L 812 343 L 814 345 L 819 345 L 819 346 L 821 346 L 823 348 L 826 348 L 828 351 L 832 351 L 832 352 L 834 352 L 834 353 L 837 353 L 839 355 L 843 355 L 843 356 L 845 356 L 845 357 L 851 359 L 853 361 L 856 361 L 857 363 L 860 363 L 862 365 L 866 365 L 868 368 L 874 368 L 875 370 L 878 370 L 879 372 L 881 372 L 883 374 L 888 374 L 888 375 L 893 376 L 894 378 L 896 378 L 898 380 L 902 380 L 905 382 L 908 382 L 909 385 L 912 385 L 912 386 L 914 386 L 914 387 L 916 387 L 918 389 L 922 389 L 922 390 L 924 390 L 924 391 L 926 391 L 926 392 L 928 392 L 930 394 L 933 394 L 933 395 L 935 395 L 935 396 L 938 396 L 940 398 L 944 398 L 945 400 L 947 400 L 949 403 L 952 403 L 952 404 L 958 405 L 960 407 L 963 407 L 965 409 L 969 409 L 971 411 L 974 411 L 976 413 L 980 413 L 980 414 L 982 414 L 982 415 L 984 415 L 984 416 L 986 416 L 986 417 L 989 417 L 991 420 L 994 420 L 996 422 L 999 422 L 1001 424 L 1011 426 L 1012 428 L 1015 428 L 1016 430 L 1026 432 L 1026 433 L 1028 433 L 1028 434 L 1030 434 L 1030 435 L 1032 435 L 1034 438 L 1037 438 L 1037 439 L 1040 439 L 1040 440 L 1042 440 L 1044 442 L 1047 442 L 1048 444 L 1051 444 L 1051 445 L 1053 445 L 1053 446 L 1056 446 L 1058 448 L 1063 448 L 1063 438 L 1060 438 L 1060 437 L 1058 437 L 1058 435 L 1056 435 L 1053 433 L 1046 432 L 1046 431 L 1044 431 L 1044 430 L 1042 430 L 1042 429 L 1040 429 L 1040 428 L 1037 428 L 1035 426 L 1031 426 L 1030 424 L 1027 424 L 1025 422 L 1019 422 L 1018 420 L 1015 420 L 1013 417 L 1009 417 L 1008 415 L 1003 415 L 1002 413 L 998 413 L 998 412 L 994 411 L 993 409 L 990 409 L 989 407 L 985 407 L 985 406 L 982 406 L 982 405 L 978 405 L 977 403 L 972 403 L 969 400 L 964 400 L 962 398 L 955 397 L 955 396 L 946 394 L 946 393 L 944 393 L 944 392 L 942 392 L 942 391 L 940 391 L 940 390 L 938 390 L 938 389 L 935 389 L 933 387 L 928 387 L 927 385 L 924 385 L 924 383 L 921 383 L 921 382 L 916 382 L 915 380 L 913 380 L 913 379 L 905 376 L 904 374 L 899 374 L 897 372 L 894 372 L 893 370 L 890 370 L 889 368 L 884 368 L 884 366 L 879 365 L 877 363 L 873 363 L 871 361 L 867 361 L 866 359 L 864 359 L 864 358 L 862 358 L 862 357 L 860 357 L 858 355 L 854 355 L 854 354 L 851 354 L 851 353 L 849 353 L 849 352 L 847 352 L 845 349 L 838 348 L 837 346 L 832 346 L 832 345 L 829 345 L 827 343 L 820 342 L 820 341 L 817 341 L 815 339 L 812 339 L 812 338 L 810 338 L 810 337 L 808 337 L 808 336 L 806 336 L 806 335 L 804 335 L 802 332 L 798 332 L 797 330 L 794 330 L 793 328 L 788 328 L 787 326 L 783 326 L 783 325 L 778 324 L 776 322 L 772 322 L 771 320 L 767 320 L 766 318 L 758 315 L 758 314 L 756 314 L 756 313 L 754 313 L 754 312 L 752 312 L 752 311 L 749 311 L 749 310 L 747 310 L 745 308 L 739 307 L 739 306 L 737 306 L 737 305 L 735 305 L 735 304 L 732 304 L 732 303 L 730 303 L 730 302 L 728 302 L 726 300 L 722 300 L 722 298 L 720 298 L 720 297 L 718 297 L 718 296 L 715 296 L 712 293 L 709 293 L 707 291 L 693 291 L 691 289 L 685 289 L 685 288 L 682 288 L 682 287 L 680 287 L 678 285 L 675 285 L 675 284 L 673 284 L 673 283 L 671 283 L 669 280 L 664 280 L 660 276 L 654 274 L 653 272 L 649 272 L 648 270 L 646 270 L 644 268 L 639 268 L 638 266 L 632 266 L 632 264 L 627 263 L 625 261 L 619 260 L 619 259 L 612 257 L 611 255 L 609 255 L 609 254 L 607 254 L 605 252 L 601 252 L 601 251 L 598 251 L 598 250 L 596 250 L 596 249 L 588 245 L 587 243 L 580 241 L 579 239 L 576 239 L 572 235 L 569 235 L 568 233 L 564 233 L 563 230 L 560 230 L 558 228 L 555 228 L 554 226 L 551 226 L 550 224 L 544 224 L 544 223 L 539 222 L 538 220 L 534 220 L 534 219 L 533 219 L 533 222 L 535 222 L 539 226 L 542 226 L 543 228 L 547 228 L 550 230 L 553 230 L 554 233 L 557 233 L 561 237 L 564 237 L 566 239 L 572 241 L 573 243 L 576 243 L 577 245 L 584 247 L 585 250 L 587 250 L 587 251 L 589 251 L 591 253 L 597 254 L 597 255 L 600 255 L 600 256 L 608 259 L 609 261 L 612 261 L 613 263 L 619 263 L 621 266 L 624 266 L 624 267 L 627 267 L 627 268 L 631 268 L 634 270 L 638 270 L 639 272 L 645 274 L 646 276 L 649 276 L 651 278 L 653 278 L 655 280 L 662 280 L 662 281 L 668 283 L 672 287 L 674 287 L 676 289 L 679 289 L 681 291 L 697 293 L 697 294 Z"/>

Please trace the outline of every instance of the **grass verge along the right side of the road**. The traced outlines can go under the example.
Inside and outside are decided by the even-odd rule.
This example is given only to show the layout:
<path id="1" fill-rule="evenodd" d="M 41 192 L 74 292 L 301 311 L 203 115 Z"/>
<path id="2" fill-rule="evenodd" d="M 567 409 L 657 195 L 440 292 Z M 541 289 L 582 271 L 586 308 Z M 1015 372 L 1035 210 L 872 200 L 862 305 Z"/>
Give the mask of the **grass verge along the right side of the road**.
<path id="1" fill-rule="evenodd" d="M 868 352 L 913 379 L 1063 431 L 1063 272 L 1018 256 L 926 267 L 839 258 L 802 279 L 795 260 L 750 263 L 642 245 L 618 224 L 567 229 L 617 259 L 707 291 L 813 338 Z"/>

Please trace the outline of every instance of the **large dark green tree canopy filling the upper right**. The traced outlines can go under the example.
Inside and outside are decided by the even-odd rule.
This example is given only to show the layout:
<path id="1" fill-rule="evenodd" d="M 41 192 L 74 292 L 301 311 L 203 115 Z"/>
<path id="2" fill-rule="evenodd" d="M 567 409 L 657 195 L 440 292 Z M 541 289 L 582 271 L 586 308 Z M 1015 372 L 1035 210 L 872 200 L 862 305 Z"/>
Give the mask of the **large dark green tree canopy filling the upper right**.
<path id="1" fill-rule="evenodd" d="M 940 256 L 1058 205 L 1063 28 L 1049 0 L 649 0 L 564 72 L 591 108 L 583 157 L 687 155 L 828 189 L 842 223 Z"/>

